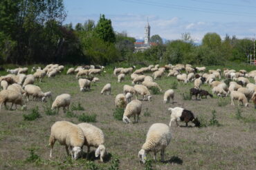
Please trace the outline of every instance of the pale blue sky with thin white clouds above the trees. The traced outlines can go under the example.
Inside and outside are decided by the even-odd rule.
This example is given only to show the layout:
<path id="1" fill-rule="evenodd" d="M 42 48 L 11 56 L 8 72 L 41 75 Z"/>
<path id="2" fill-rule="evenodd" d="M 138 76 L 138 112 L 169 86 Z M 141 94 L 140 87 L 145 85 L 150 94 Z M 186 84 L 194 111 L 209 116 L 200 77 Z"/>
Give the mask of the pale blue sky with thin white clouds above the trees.
<path id="1" fill-rule="evenodd" d="M 111 19 L 116 32 L 143 39 L 147 18 L 151 36 L 181 39 L 189 32 L 200 42 L 208 32 L 239 39 L 256 34 L 256 0 L 64 0 L 64 23 L 98 22 L 100 14 Z"/>

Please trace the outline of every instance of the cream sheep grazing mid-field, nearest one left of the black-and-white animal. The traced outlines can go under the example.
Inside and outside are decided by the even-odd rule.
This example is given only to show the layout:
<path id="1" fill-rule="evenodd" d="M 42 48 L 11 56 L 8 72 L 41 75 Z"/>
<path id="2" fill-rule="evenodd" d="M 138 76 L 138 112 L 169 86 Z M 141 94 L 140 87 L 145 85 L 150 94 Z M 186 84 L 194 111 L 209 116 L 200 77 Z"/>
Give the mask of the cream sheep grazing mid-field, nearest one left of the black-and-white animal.
<path id="1" fill-rule="evenodd" d="M 140 100 L 131 100 L 130 103 L 125 107 L 125 112 L 122 116 L 122 121 L 124 123 L 131 123 L 129 117 L 134 116 L 134 123 L 138 123 L 138 116 L 140 115 L 140 111 L 143 107 L 143 103 Z M 137 115 L 137 120 L 136 120 Z"/>

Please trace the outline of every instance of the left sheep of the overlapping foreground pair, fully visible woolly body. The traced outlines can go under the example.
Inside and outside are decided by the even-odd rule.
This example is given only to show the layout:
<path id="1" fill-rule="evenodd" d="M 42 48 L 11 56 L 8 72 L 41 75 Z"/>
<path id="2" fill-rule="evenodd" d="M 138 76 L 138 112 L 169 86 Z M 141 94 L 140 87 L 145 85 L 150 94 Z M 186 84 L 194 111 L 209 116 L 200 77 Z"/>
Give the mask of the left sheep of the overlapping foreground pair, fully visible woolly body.
<path id="1" fill-rule="evenodd" d="M 53 146 L 56 140 L 60 145 L 65 145 L 66 153 L 67 155 L 71 153 L 72 159 L 77 160 L 82 155 L 85 138 L 84 132 L 78 125 L 67 121 L 57 121 L 52 125 L 49 138 L 50 158 L 53 157 Z"/>

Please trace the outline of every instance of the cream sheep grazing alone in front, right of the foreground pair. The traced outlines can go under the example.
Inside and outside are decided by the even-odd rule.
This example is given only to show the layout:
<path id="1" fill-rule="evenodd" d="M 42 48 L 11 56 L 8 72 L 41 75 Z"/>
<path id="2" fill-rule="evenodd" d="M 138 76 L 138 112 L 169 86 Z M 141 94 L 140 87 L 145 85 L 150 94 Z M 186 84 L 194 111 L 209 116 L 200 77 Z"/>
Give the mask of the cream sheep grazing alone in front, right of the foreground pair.
<path id="1" fill-rule="evenodd" d="M 154 152 L 154 160 L 156 160 L 156 153 L 161 151 L 161 161 L 164 161 L 165 148 L 169 145 L 172 139 L 170 127 L 163 123 L 154 123 L 147 131 L 147 138 L 140 151 L 138 158 L 143 164 L 146 162 L 146 156 L 149 151 Z"/>

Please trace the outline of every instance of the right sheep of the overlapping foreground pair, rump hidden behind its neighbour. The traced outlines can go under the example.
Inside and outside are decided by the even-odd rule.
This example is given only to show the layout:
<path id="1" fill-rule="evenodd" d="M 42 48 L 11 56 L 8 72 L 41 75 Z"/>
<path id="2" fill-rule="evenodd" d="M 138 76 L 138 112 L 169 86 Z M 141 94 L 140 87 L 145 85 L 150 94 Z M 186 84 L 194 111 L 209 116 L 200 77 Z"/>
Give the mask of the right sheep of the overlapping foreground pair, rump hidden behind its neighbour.
<path id="1" fill-rule="evenodd" d="M 80 123 L 77 125 L 84 132 L 84 145 L 87 146 L 88 158 L 90 153 L 90 147 L 96 147 L 95 157 L 100 156 L 100 161 L 103 162 L 104 156 L 107 154 L 106 148 L 104 147 L 104 134 L 103 131 L 89 123 Z"/>

